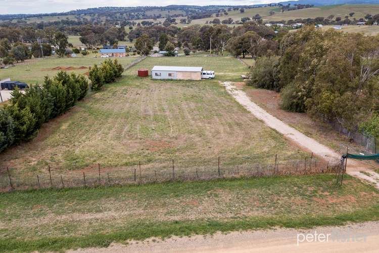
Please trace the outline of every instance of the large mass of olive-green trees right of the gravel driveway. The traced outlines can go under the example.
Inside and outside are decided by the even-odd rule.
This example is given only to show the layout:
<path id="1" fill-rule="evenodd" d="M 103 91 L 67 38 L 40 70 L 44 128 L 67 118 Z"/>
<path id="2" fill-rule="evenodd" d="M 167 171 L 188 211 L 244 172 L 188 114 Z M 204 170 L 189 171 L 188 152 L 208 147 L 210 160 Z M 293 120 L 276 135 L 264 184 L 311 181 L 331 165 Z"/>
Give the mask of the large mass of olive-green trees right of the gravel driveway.
<path id="1" fill-rule="evenodd" d="M 279 58 L 258 58 L 251 75 L 251 85 L 280 91 L 283 109 L 376 133 L 377 36 L 307 26 L 281 39 Z"/>

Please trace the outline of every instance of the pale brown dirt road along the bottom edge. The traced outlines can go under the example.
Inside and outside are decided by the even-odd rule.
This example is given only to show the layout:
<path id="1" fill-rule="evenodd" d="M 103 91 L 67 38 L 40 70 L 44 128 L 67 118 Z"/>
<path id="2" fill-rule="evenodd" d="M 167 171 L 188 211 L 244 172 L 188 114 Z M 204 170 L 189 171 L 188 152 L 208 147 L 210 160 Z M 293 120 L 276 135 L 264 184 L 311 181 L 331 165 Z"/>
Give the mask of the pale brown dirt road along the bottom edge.
<path id="1" fill-rule="evenodd" d="M 328 242 L 299 242 L 298 234 L 330 234 Z M 355 236 L 359 236 L 355 237 Z M 299 236 L 301 241 L 301 236 Z M 339 238 L 339 239 L 338 239 Z M 350 240 L 347 241 L 347 238 Z M 361 241 L 352 241 L 352 239 Z M 365 238 L 365 239 L 364 239 Z M 345 240 L 344 240 L 345 239 Z M 147 239 L 128 245 L 112 244 L 108 248 L 86 248 L 70 252 L 377 252 L 379 222 L 344 227 L 318 227 L 309 230 L 276 229 L 217 233 L 213 236 Z"/>

